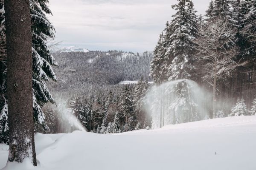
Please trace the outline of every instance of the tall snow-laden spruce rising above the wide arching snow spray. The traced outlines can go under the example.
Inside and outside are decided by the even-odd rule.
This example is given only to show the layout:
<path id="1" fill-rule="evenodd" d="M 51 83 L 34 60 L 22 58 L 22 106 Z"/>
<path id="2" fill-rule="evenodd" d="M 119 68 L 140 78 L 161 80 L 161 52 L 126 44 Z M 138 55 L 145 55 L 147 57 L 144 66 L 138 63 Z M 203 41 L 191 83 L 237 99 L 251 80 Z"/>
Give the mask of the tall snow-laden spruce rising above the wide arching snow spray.
<path id="1" fill-rule="evenodd" d="M 167 49 L 168 55 L 173 58 L 170 65 L 166 65 L 169 80 L 190 78 L 194 69 L 192 63 L 195 61 L 193 41 L 198 34 L 196 11 L 191 0 L 178 1 L 172 6 L 177 12 L 170 23 L 172 35 Z"/>

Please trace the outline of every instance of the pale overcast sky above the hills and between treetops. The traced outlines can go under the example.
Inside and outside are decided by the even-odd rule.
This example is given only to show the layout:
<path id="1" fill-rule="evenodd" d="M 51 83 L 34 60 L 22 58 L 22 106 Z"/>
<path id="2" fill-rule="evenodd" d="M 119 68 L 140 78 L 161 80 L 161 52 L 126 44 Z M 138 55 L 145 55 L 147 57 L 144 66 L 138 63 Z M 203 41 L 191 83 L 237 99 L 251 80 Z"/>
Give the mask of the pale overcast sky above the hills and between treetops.
<path id="1" fill-rule="evenodd" d="M 152 51 L 177 0 L 49 0 L 61 46 L 89 50 Z M 204 14 L 210 0 L 193 0 Z"/>

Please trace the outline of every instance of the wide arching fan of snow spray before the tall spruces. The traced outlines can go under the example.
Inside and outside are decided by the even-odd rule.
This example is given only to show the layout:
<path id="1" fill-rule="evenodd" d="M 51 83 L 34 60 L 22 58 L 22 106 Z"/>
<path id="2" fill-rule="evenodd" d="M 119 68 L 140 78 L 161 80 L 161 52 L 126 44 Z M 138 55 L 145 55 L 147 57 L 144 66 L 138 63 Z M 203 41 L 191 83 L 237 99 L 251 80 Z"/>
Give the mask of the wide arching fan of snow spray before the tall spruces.
<path id="1" fill-rule="evenodd" d="M 152 117 L 152 128 L 192 122 L 209 115 L 212 96 L 189 79 L 154 85 L 146 95 L 145 111 Z"/>

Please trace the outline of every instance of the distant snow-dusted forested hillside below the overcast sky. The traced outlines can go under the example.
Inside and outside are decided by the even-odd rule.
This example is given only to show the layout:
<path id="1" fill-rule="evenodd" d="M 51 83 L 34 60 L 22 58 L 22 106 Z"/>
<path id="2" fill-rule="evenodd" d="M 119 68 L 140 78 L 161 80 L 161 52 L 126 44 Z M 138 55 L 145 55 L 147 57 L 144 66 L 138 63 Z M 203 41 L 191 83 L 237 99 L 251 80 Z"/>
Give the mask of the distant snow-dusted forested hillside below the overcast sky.
<path id="1" fill-rule="evenodd" d="M 106 96 L 110 89 L 119 87 L 119 82 L 141 77 L 151 80 L 151 52 L 62 52 L 55 53 L 54 57 L 58 62 L 58 68 L 55 68 L 58 83 L 52 82 L 50 86 L 58 95 L 90 97 L 107 91 L 101 94 Z"/>

